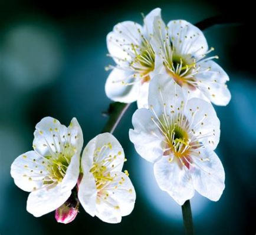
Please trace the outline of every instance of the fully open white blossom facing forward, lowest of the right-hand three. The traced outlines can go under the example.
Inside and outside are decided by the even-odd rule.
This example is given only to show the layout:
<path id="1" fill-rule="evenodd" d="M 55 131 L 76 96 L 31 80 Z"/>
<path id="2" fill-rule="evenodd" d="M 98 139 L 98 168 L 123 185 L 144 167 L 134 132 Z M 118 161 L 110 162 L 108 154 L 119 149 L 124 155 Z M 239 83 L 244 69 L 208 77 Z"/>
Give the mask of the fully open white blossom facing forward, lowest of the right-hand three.
<path id="1" fill-rule="evenodd" d="M 194 191 L 217 201 L 225 188 L 225 173 L 214 153 L 219 142 L 219 120 L 211 103 L 188 100 L 182 88 L 166 75 L 149 86 L 149 110 L 132 118 L 130 140 L 137 153 L 154 164 L 159 187 L 180 205 Z"/>

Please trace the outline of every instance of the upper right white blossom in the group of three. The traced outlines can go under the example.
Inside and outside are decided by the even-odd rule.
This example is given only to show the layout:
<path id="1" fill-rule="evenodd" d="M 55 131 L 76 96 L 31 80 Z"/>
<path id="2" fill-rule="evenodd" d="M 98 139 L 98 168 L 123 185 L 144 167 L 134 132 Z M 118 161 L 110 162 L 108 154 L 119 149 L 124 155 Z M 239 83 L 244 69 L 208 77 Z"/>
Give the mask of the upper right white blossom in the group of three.
<path id="1" fill-rule="evenodd" d="M 217 56 L 206 57 L 208 49 L 202 31 L 184 20 L 170 21 L 166 27 L 160 16 L 153 23 L 152 47 L 156 64 L 162 64 L 160 74 L 191 92 L 191 97 L 204 98 L 216 105 L 227 105 L 231 94 L 226 82 L 229 77 L 216 62 Z"/>

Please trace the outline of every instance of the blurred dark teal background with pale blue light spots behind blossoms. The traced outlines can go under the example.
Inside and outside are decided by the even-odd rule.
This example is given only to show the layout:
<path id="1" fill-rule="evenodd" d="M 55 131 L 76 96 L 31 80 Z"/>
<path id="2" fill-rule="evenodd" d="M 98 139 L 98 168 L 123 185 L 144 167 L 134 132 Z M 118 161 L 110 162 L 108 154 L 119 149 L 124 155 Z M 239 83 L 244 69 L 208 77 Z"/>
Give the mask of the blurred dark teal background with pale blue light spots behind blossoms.
<path id="1" fill-rule="evenodd" d="M 124 168 L 137 192 L 136 206 L 120 224 L 106 224 L 80 208 L 76 220 L 58 224 L 54 213 L 35 218 L 26 211 L 28 193 L 15 186 L 12 161 L 32 149 L 35 124 L 52 116 L 68 125 L 77 117 L 87 143 L 107 121 L 104 94 L 113 64 L 106 57 L 106 35 L 117 22 L 142 23 L 162 8 L 163 19 L 192 23 L 222 15 L 245 24 L 206 29 L 219 64 L 228 72 L 232 100 L 215 107 L 221 120 L 217 153 L 226 188 L 217 203 L 196 195 L 191 200 L 196 234 L 255 234 L 256 78 L 254 8 L 225 1 L 0 1 L 0 234 L 183 234 L 181 208 L 160 191 L 152 165 L 139 157 L 128 130 L 133 104 L 114 135 L 127 155 Z"/>

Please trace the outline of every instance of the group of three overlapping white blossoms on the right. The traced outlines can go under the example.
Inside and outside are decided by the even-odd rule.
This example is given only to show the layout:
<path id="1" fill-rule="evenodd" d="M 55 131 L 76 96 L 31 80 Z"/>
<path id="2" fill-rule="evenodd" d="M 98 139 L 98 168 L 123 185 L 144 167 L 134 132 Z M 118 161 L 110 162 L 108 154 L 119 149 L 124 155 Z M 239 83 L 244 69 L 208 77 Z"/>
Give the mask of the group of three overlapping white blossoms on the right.
<path id="1" fill-rule="evenodd" d="M 211 102 L 227 105 L 226 72 L 208 57 L 200 29 L 184 20 L 166 26 L 159 8 L 144 25 L 125 21 L 107 35 L 116 62 L 105 90 L 114 101 L 137 101 L 130 140 L 137 153 L 154 163 L 159 187 L 180 205 L 195 190 L 216 201 L 225 173 L 214 150 L 219 119 Z"/>

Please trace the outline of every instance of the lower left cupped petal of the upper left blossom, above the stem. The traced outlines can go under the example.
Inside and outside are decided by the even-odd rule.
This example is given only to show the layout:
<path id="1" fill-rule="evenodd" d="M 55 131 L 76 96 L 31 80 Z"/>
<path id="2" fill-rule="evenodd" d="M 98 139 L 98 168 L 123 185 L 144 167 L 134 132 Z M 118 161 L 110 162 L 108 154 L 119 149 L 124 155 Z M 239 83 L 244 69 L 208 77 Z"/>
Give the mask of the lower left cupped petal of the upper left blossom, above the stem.
<path id="1" fill-rule="evenodd" d="M 127 79 L 128 78 L 128 79 Z M 123 84 L 123 82 L 134 82 L 133 72 L 114 68 L 107 78 L 105 92 L 107 97 L 113 101 L 131 103 L 137 100 L 140 90 L 140 82 L 134 82 L 132 85 Z"/>

